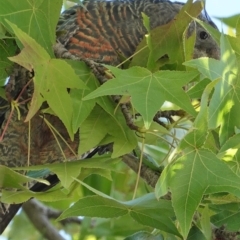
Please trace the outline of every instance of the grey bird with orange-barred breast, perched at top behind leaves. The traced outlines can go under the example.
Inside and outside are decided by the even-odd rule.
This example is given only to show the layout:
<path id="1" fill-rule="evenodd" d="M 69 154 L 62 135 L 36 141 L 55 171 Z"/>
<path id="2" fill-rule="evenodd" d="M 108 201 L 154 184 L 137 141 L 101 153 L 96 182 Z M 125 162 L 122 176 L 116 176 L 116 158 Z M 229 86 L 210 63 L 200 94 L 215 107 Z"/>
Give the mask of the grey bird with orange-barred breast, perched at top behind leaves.
<path id="1" fill-rule="evenodd" d="M 184 6 L 168 0 L 90 0 L 64 11 L 57 24 L 58 41 L 73 55 L 98 63 L 118 65 L 119 55 L 135 52 L 147 30 L 142 12 L 150 18 L 150 28 L 172 21 Z M 204 10 L 198 18 L 217 28 Z M 189 26 L 188 36 L 195 23 Z M 196 24 L 194 58 L 219 58 L 219 47 L 206 30 Z"/>

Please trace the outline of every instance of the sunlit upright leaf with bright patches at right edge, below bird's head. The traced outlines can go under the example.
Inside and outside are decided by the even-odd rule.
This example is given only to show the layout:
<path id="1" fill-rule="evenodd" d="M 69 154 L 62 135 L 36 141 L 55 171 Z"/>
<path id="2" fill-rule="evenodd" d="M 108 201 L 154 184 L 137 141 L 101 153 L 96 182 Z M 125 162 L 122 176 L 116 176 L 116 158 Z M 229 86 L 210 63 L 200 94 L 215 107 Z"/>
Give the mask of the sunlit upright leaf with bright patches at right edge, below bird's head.
<path id="1" fill-rule="evenodd" d="M 235 45 L 233 45 L 235 46 Z M 221 79 L 215 87 L 215 91 L 209 104 L 210 129 L 220 126 L 220 143 L 224 142 L 234 134 L 235 127 L 240 127 L 238 121 L 240 113 L 240 76 L 238 74 L 240 65 L 230 45 L 228 37 L 221 36 L 221 60 L 202 58 L 195 59 L 185 64 L 197 68 L 210 80 Z"/>

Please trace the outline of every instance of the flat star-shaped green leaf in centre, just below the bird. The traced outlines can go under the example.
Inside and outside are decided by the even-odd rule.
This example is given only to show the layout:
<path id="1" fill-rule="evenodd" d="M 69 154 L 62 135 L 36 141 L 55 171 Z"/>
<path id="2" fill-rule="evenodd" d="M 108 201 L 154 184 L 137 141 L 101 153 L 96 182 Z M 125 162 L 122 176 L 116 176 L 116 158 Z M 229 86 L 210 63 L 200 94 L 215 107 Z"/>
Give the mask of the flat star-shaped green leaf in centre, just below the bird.
<path id="1" fill-rule="evenodd" d="M 197 72 L 158 71 L 151 73 L 140 67 L 127 70 L 111 66 L 108 68 L 116 78 L 103 84 L 84 100 L 104 95 L 130 95 L 131 103 L 142 115 L 147 129 L 154 115 L 166 100 L 195 116 L 196 112 L 182 86 L 194 79 L 198 75 Z"/>

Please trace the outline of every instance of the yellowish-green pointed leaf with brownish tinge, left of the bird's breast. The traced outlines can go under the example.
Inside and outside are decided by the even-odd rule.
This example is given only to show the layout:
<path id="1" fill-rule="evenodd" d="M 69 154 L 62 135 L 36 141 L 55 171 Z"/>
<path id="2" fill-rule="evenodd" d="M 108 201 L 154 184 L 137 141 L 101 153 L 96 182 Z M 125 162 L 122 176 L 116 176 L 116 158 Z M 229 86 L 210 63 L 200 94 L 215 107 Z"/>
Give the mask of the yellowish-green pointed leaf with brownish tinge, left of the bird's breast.
<path id="1" fill-rule="evenodd" d="M 26 121 L 38 111 L 46 100 L 73 137 L 73 107 L 68 88 L 84 88 L 84 83 L 65 61 L 51 59 L 48 53 L 16 25 L 8 22 L 14 33 L 24 45 L 18 56 L 9 58 L 29 71 L 34 69 L 34 93 Z"/>

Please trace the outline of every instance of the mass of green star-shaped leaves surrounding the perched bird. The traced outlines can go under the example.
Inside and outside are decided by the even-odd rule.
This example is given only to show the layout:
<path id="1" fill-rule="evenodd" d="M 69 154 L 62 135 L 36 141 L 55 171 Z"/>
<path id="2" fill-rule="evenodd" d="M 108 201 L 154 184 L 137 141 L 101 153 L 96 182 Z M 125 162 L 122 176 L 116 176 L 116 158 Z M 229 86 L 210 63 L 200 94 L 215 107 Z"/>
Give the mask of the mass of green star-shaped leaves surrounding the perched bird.
<path id="1" fill-rule="evenodd" d="M 0 160 L 1 202 L 34 197 L 61 209 L 58 220 L 84 216 L 80 228 L 62 227 L 74 239 L 211 239 L 213 229 L 223 225 L 229 232 L 239 231 L 239 15 L 224 19 L 236 29 L 235 36 L 200 22 L 219 42 L 219 60 L 191 59 L 195 36 L 186 39 L 184 31 L 192 18 L 181 11 L 175 22 L 150 32 L 138 48 L 143 50 L 123 68 L 105 66 L 113 79 L 99 86 L 83 61 L 54 57 L 61 6 L 61 0 L 1 1 L 1 97 L 13 63 L 34 71 L 25 121 L 39 111 L 57 116 L 72 141 L 80 138 L 78 156 L 109 143 L 113 150 L 91 159 L 16 168 Z M 188 1 L 186 9 L 194 18 L 201 6 L 192 6 Z M 148 19 L 144 21 L 147 26 Z M 160 58 L 164 55 L 168 60 Z M 112 95 L 123 96 L 121 103 L 131 106 L 137 131 L 127 126 Z M 179 115 L 179 110 L 180 116 L 161 115 L 162 122 L 153 121 L 158 111 Z M 49 128 L 54 130 L 51 123 Z M 122 162 L 133 151 L 160 176 L 154 189 L 144 181 L 138 184 L 140 173 Z M 47 192 L 30 191 L 26 183 L 33 180 L 47 184 L 46 172 L 57 174 L 60 183 Z M 16 234 L 25 229 L 19 219 L 25 219 L 23 213 L 13 221 L 11 239 L 19 234 L 27 239 L 33 232 Z"/>

